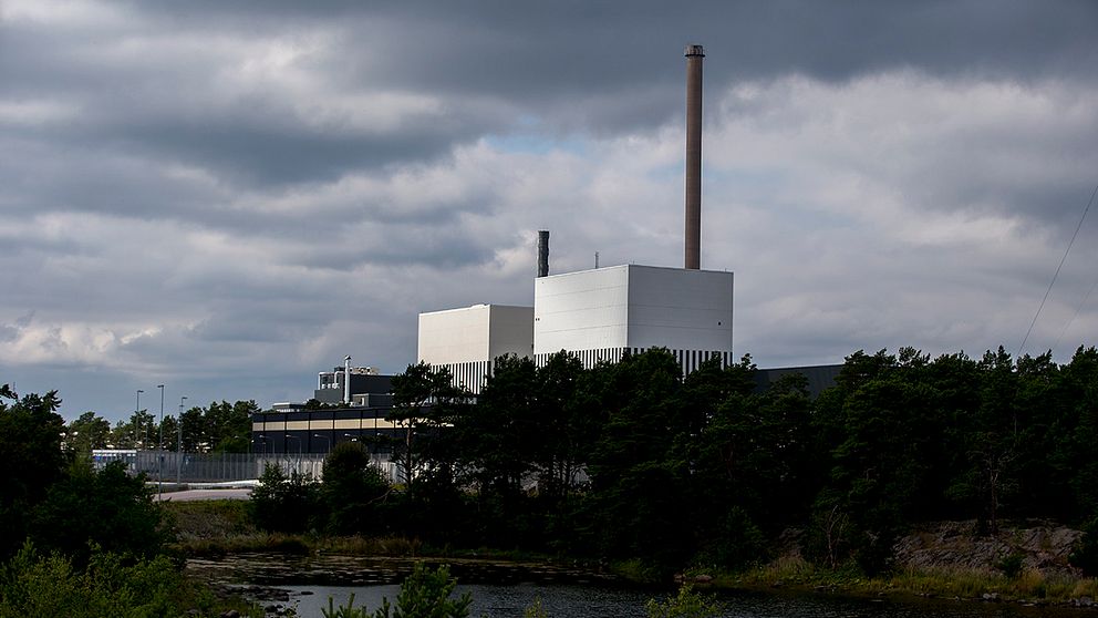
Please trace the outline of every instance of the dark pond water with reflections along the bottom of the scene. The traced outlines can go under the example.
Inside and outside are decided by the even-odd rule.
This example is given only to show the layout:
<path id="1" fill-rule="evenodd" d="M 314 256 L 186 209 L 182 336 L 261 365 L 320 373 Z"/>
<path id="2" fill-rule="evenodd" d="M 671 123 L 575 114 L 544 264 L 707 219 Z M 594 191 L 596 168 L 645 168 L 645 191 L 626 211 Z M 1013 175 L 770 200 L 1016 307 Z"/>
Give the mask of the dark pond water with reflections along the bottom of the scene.
<path id="1" fill-rule="evenodd" d="M 643 618 L 649 599 L 665 599 L 673 590 L 639 589 L 579 569 L 536 564 L 450 560 L 457 593 L 470 593 L 470 616 L 521 617 L 535 599 L 551 618 Z M 414 562 L 344 556 L 297 557 L 248 554 L 221 559 L 190 560 L 187 569 L 209 581 L 277 588 L 289 594 L 282 605 L 302 618 L 320 618 L 329 597 L 335 606 L 354 594 L 355 607 L 373 609 L 382 598 L 395 602 L 398 581 Z M 1026 608 L 1007 604 L 904 599 L 851 599 L 826 594 L 722 593 L 723 618 L 1064 618 L 1077 611 Z M 276 601 L 266 601 L 273 604 Z"/>

